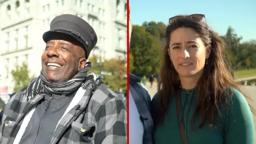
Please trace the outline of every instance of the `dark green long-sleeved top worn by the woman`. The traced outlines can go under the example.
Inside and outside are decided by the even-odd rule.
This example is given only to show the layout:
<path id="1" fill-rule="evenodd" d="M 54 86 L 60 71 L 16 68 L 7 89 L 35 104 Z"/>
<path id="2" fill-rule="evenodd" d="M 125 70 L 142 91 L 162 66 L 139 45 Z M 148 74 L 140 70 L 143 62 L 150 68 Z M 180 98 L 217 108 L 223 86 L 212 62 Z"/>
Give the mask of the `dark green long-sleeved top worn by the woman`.
<path id="1" fill-rule="evenodd" d="M 205 125 L 202 129 L 197 128 L 199 118 L 195 119 L 194 130 L 190 129 L 190 119 L 194 114 L 196 100 L 192 97 L 192 91 L 181 90 L 182 113 L 185 124 L 185 133 L 187 144 L 253 144 L 254 143 L 254 123 L 249 105 L 244 95 L 233 89 L 234 95 L 232 105 L 227 109 L 222 109 L 218 117 L 220 121 L 215 125 Z M 152 100 L 155 104 L 157 93 Z M 179 124 L 176 111 L 176 99 L 170 101 L 169 108 L 166 112 L 164 122 L 156 126 L 155 144 L 182 143 Z"/>

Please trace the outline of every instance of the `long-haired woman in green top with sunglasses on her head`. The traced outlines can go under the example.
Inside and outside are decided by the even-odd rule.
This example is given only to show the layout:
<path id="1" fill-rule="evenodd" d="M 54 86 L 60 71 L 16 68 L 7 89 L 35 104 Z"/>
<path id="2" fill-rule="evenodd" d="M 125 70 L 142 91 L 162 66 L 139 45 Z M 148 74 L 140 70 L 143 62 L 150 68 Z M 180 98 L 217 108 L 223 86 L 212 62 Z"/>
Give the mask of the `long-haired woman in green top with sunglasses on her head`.
<path id="1" fill-rule="evenodd" d="M 227 69 L 225 42 L 204 15 L 170 18 L 158 92 L 153 98 L 156 144 L 252 144 L 246 96 Z"/>

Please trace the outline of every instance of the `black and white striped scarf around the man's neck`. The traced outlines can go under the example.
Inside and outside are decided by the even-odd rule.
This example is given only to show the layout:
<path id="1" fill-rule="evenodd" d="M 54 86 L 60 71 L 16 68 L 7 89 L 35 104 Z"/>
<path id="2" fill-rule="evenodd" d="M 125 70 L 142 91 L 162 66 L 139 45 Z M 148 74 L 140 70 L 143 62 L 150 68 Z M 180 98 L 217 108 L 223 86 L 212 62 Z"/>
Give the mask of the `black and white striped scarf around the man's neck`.
<path id="1" fill-rule="evenodd" d="M 67 82 L 49 82 L 45 78 L 43 70 L 41 75 L 32 79 L 23 93 L 26 95 L 27 101 L 33 99 L 37 94 L 44 90 L 45 93 L 68 94 L 75 92 L 79 87 L 86 88 L 90 83 L 101 84 L 101 79 L 95 74 L 87 75 L 91 69 L 91 62 L 86 62 L 84 69 L 80 70 L 72 79 Z M 85 82 L 86 80 L 86 82 Z"/>

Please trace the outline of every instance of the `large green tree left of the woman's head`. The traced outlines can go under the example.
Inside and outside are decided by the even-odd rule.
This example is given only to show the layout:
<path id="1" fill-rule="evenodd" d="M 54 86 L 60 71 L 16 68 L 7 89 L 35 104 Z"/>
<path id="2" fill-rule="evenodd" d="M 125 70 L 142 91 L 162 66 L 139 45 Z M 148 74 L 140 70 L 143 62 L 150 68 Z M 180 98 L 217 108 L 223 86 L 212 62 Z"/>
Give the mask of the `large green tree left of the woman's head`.
<path id="1" fill-rule="evenodd" d="M 133 74 L 157 74 L 159 70 L 159 45 L 144 26 L 133 26 L 130 52 L 134 57 Z"/>

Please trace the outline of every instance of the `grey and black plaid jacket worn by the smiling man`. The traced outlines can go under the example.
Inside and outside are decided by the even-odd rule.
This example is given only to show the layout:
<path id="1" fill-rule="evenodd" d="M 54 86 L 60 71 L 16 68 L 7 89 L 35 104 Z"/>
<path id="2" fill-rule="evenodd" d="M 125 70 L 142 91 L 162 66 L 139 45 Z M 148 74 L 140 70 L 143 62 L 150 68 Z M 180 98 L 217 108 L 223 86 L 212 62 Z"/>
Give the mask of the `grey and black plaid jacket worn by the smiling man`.
<path id="1" fill-rule="evenodd" d="M 36 95 L 26 102 L 22 91 L 11 98 L 3 112 L 0 143 L 13 143 L 26 113 L 42 99 Z M 88 88 L 78 105 L 60 121 L 51 143 L 127 143 L 126 115 L 124 97 L 116 95 L 104 84 L 93 94 Z"/>

